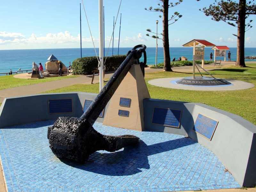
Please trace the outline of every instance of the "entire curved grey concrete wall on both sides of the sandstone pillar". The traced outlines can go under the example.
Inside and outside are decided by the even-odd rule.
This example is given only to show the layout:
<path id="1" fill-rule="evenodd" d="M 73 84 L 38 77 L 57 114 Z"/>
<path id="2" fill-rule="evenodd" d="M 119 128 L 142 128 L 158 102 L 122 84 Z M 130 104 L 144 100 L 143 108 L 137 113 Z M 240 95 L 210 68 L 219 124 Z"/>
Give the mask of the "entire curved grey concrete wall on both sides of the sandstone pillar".
<path id="1" fill-rule="evenodd" d="M 84 92 L 51 93 L 13 97 L 4 100 L 0 107 L 0 128 L 35 121 L 57 119 L 59 116 L 80 117 L 84 100 L 94 100 L 97 94 Z M 73 102 L 73 113 L 49 114 L 48 99 L 68 99 Z M 172 128 L 152 124 L 154 107 L 181 110 L 180 127 Z M 108 108 L 105 108 L 103 117 Z M 256 184 L 256 126 L 240 116 L 199 103 L 170 100 L 144 99 L 145 130 L 168 132 L 189 136 L 212 150 L 228 168 L 241 186 Z M 212 140 L 192 131 L 198 113 L 217 120 L 219 123 Z M 103 122 L 103 118 L 97 121 Z"/>

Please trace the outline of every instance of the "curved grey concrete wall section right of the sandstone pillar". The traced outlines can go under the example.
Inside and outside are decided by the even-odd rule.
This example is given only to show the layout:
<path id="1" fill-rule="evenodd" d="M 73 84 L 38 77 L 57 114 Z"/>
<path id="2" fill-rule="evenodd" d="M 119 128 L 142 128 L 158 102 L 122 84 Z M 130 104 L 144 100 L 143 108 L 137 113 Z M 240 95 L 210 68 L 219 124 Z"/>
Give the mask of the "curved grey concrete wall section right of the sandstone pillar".
<path id="1" fill-rule="evenodd" d="M 179 109 L 180 127 L 152 124 L 154 107 Z M 145 130 L 189 136 L 212 150 L 241 186 L 256 183 L 256 126 L 244 118 L 200 103 L 144 99 Z M 192 131 L 198 113 L 219 121 L 212 140 Z"/>

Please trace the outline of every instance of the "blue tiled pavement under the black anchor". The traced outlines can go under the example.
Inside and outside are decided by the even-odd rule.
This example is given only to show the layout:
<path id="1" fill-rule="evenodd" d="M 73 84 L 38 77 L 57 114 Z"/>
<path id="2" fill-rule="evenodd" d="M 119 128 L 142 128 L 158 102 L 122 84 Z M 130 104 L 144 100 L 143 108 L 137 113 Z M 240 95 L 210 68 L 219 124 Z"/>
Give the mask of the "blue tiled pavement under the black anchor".
<path id="1" fill-rule="evenodd" d="M 0 130 L 0 155 L 9 192 L 159 192 L 238 188 L 207 148 L 180 135 L 104 126 L 107 135 L 132 134 L 138 146 L 97 151 L 85 164 L 60 161 L 49 148 L 44 121 Z"/>

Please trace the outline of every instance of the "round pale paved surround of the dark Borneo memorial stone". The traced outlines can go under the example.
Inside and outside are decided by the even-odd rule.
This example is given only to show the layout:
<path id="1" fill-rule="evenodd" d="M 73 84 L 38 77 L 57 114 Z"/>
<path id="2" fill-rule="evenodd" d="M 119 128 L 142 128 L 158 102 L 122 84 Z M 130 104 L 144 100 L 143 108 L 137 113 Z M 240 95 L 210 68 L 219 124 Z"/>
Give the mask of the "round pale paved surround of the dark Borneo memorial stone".
<path id="1" fill-rule="evenodd" d="M 192 80 L 191 77 L 170 77 L 170 78 L 161 78 L 161 79 L 153 79 L 148 81 L 149 84 L 172 88 L 172 89 L 184 89 L 184 90 L 196 90 L 196 91 L 234 91 L 234 90 L 242 90 L 242 89 L 250 89 L 254 87 L 254 84 L 247 83 L 244 81 L 237 81 L 231 79 L 222 79 L 222 81 L 227 81 L 230 84 L 222 84 L 222 85 L 200 85 L 203 78 L 197 78 L 196 80 Z M 187 84 L 179 84 L 180 81 L 187 81 Z M 198 85 L 189 84 L 191 81 L 198 81 Z M 216 79 L 207 78 L 205 81 L 213 81 L 215 83 Z M 193 82 L 192 82 L 193 83 Z M 203 82 L 202 82 L 203 84 Z M 206 82 L 207 84 L 207 82 Z"/>

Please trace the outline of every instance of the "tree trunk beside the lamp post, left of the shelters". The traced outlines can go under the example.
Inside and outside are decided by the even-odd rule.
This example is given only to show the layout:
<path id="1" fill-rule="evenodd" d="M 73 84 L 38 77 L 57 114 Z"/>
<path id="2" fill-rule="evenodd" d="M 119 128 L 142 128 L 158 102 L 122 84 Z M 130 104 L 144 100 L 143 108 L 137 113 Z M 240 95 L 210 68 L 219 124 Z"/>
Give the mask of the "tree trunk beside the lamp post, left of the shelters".
<path id="1" fill-rule="evenodd" d="M 170 50 L 169 50 L 168 9 L 169 9 L 169 0 L 164 0 L 163 1 L 164 71 L 172 71 Z"/>

